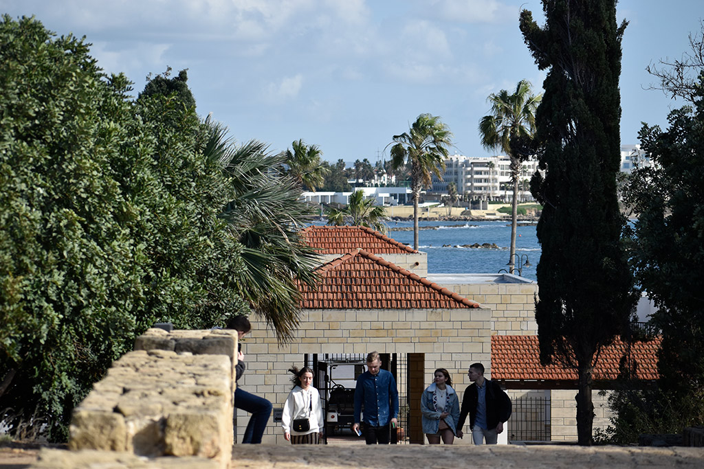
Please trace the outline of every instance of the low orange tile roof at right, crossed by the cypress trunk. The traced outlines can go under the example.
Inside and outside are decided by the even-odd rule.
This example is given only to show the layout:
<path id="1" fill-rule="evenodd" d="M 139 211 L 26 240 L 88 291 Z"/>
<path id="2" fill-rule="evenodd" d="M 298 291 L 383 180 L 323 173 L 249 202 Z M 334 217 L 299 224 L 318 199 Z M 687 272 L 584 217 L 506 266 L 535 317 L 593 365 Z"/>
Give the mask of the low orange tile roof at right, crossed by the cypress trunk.
<path id="1" fill-rule="evenodd" d="M 640 380 L 658 379 L 660 338 L 636 342 L 631 351 Z M 602 350 L 594 368 L 594 380 L 615 380 L 626 344 L 616 340 Z M 491 336 L 491 378 L 496 380 L 577 380 L 577 373 L 561 364 L 541 366 L 536 335 Z"/>

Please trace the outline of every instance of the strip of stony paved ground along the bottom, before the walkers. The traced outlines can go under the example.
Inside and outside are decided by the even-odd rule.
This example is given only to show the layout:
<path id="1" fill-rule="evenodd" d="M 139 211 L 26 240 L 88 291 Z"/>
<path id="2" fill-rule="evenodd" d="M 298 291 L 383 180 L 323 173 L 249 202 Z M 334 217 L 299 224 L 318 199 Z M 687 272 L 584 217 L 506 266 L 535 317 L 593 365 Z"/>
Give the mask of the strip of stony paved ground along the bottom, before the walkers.
<path id="1" fill-rule="evenodd" d="M 0 448 L 0 469 L 28 468 L 37 449 Z M 704 448 L 637 446 L 366 446 L 334 442 L 320 446 L 236 445 L 232 468 L 704 468 Z"/>

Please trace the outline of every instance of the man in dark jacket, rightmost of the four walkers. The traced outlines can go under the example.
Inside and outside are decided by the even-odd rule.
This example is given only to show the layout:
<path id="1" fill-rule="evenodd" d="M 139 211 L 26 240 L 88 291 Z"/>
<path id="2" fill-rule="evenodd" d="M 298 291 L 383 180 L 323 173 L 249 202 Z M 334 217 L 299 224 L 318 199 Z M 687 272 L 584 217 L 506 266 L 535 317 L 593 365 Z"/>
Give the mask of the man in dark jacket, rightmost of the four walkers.
<path id="1" fill-rule="evenodd" d="M 470 414 L 470 430 L 474 444 L 496 444 L 498 434 L 503 432 L 503 423 L 511 416 L 511 399 L 496 381 L 484 379 L 484 365 L 470 365 L 467 373 L 472 384 L 465 389 L 457 425 L 457 436 L 462 438 L 467 413 Z"/>

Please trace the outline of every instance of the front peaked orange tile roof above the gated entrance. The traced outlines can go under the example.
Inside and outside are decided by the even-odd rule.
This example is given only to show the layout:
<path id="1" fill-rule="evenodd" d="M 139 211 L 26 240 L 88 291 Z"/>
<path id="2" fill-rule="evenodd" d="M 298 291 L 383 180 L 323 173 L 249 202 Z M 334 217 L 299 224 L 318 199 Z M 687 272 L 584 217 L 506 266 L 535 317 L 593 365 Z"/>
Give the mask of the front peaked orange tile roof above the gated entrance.
<path id="1" fill-rule="evenodd" d="M 478 308 L 479 303 L 361 249 L 316 269 L 320 282 L 301 286 L 303 309 Z"/>

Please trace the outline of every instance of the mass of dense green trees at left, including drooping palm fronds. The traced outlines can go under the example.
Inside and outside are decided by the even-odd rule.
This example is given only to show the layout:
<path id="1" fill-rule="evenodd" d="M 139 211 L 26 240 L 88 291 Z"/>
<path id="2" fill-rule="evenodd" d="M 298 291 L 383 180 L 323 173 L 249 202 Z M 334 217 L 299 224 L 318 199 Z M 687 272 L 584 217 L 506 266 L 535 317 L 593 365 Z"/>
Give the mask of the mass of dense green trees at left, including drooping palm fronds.
<path id="1" fill-rule="evenodd" d="M 225 141 L 182 94 L 132 101 L 83 39 L 4 16 L 0 44 L 6 421 L 34 416 L 63 439 L 73 406 L 156 321 L 209 328 L 251 306 L 285 338 L 313 255 L 296 235 L 300 191 L 269 174 L 280 160 Z"/>

